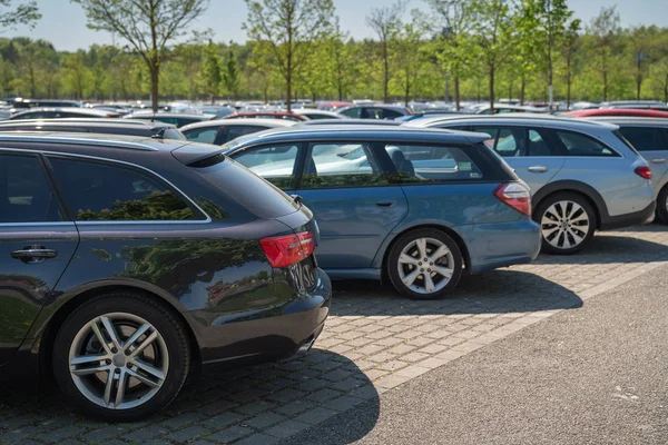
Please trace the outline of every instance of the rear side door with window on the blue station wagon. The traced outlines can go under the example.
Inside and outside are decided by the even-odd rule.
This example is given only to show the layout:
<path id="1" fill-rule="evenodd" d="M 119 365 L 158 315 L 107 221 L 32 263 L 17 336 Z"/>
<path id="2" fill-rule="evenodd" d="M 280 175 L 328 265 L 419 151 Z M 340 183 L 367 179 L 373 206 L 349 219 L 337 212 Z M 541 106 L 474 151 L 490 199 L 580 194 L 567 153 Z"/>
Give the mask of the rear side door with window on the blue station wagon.
<path id="1" fill-rule="evenodd" d="M 297 194 L 321 229 L 320 265 L 328 271 L 370 268 L 407 214 L 404 192 L 390 184 L 369 142 L 313 142 L 305 159 Z"/>

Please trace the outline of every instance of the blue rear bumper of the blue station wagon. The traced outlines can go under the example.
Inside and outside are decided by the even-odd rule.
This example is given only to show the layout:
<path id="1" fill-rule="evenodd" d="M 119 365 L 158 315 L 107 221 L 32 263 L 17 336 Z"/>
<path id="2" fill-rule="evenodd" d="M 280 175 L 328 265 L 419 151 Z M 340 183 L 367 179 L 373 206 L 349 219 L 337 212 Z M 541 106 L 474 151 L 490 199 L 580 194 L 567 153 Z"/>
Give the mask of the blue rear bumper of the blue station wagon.
<path id="1" fill-rule="evenodd" d="M 455 228 L 470 256 L 470 274 L 531 263 L 541 246 L 540 227 L 531 219 Z"/>

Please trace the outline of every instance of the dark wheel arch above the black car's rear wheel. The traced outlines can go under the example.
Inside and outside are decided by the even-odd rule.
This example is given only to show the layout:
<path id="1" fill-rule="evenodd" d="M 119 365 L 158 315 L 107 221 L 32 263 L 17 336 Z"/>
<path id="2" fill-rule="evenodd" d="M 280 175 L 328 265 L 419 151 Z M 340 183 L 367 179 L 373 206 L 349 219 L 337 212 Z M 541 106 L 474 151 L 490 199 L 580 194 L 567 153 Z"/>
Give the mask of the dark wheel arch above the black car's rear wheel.
<path id="1" fill-rule="evenodd" d="M 101 284 L 96 287 L 88 287 L 86 289 L 81 289 L 80 291 L 73 291 L 68 296 L 67 300 L 55 310 L 55 313 L 49 317 L 41 334 L 35 340 L 35 344 L 38 345 L 38 354 L 39 354 L 39 367 L 40 373 L 50 375 L 51 373 L 51 360 L 53 353 L 53 344 L 56 342 L 56 336 L 58 332 L 62 327 L 65 320 L 68 315 L 71 314 L 75 308 L 82 305 L 85 301 L 102 294 L 110 293 L 132 293 L 143 295 L 161 305 L 164 308 L 169 310 L 183 325 L 186 329 L 186 335 L 188 337 L 188 344 L 190 346 L 190 357 L 193 364 L 200 363 L 200 345 L 197 342 L 197 337 L 195 332 L 193 330 L 191 325 L 188 323 L 183 312 L 175 305 L 170 298 L 165 298 L 156 291 L 151 291 L 144 287 L 134 286 L 130 284 Z"/>

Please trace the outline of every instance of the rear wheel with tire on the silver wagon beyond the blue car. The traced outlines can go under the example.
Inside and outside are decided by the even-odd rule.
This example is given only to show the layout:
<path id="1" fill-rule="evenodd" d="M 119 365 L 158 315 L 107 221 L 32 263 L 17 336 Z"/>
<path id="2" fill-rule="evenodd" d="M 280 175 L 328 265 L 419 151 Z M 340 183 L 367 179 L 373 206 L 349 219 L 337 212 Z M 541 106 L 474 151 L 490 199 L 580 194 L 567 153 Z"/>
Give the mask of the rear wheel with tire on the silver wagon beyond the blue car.
<path id="1" fill-rule="evenodd" d="M 593 207 L 578 194 L 560 192 L 547 197 L 536 208 L 533 220 L 540 226 L 544 254 L 576 254 L 596 231 Z"/>

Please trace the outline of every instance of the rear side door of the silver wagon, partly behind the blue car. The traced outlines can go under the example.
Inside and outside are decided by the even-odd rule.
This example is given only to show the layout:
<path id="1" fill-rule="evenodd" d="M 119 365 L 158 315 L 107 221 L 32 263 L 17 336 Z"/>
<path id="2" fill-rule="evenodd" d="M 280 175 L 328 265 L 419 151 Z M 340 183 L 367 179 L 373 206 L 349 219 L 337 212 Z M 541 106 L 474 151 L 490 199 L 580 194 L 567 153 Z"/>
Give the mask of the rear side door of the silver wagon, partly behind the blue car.
<path id="1" fill-rule="evenodd" d="M 532 195 L 550 182 L 566 161 L 548 129 L 494 125 L 473 126 L 471 129 L 492 136 L 485 144 L 515 170 Z"/>

